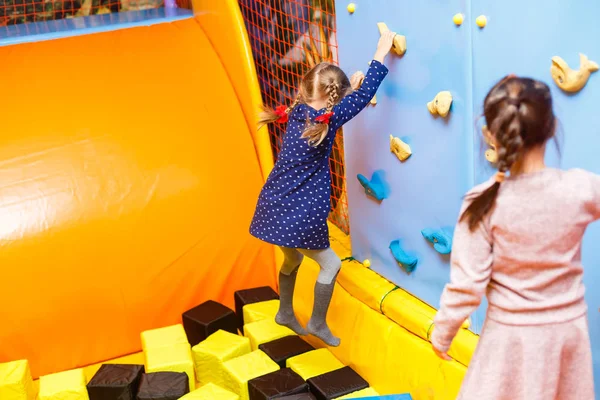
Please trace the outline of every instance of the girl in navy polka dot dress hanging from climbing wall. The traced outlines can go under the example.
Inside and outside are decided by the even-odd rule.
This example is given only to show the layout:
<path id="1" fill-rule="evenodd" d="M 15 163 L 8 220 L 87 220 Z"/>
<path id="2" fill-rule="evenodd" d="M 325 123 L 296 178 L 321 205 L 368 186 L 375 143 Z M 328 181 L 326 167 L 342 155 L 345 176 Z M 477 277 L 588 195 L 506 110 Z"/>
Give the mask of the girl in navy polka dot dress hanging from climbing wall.
<path id="1" fill-rule="evenodd" d="M 329 247 L 329 156 L 338 129 L 367 106 L 387 75 L 383 61 L 394 36 L 393 32 L 381 36 L 366 76 L 358 72 L 351 82 L 340 68 L 320 63 L 304 76 L 290 107 L 266 109 L 260 115 L 261 124 L 288 124 L 250 226 L 253 236 L 279 246 L 285 256 L 279 273 L 276 321 L 299 335 L 311 333 L 330 346 L 340 344 L 329 330 L 326 317 L 342 263 Z M 292 306 L 296 274 L 304 256 L 321 267 L 306 330 Z"/>

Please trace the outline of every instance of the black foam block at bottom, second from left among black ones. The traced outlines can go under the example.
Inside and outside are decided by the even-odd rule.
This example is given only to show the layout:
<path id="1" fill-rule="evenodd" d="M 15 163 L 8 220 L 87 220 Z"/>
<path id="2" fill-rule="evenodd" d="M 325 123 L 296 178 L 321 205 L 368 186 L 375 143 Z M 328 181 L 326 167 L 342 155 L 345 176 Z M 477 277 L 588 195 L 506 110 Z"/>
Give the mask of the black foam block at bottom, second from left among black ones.
<path id="1" fill-rule="evenodd" d="M 186 373 L 153 372 L 142 375 L 137 400 L 178 400 L 189 392 Z"/>

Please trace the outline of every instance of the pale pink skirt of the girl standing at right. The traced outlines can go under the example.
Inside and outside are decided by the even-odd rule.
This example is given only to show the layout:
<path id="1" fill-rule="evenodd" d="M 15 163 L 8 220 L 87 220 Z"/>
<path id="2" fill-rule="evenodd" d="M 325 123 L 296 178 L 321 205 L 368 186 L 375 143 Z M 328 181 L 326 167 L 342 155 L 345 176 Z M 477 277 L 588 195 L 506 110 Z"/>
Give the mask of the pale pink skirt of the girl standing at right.
<path id="1" fill-rule="evenodd" d="M 457 400 L 594 400 L 587 317 L 538 326 L 488 319 Z"/>

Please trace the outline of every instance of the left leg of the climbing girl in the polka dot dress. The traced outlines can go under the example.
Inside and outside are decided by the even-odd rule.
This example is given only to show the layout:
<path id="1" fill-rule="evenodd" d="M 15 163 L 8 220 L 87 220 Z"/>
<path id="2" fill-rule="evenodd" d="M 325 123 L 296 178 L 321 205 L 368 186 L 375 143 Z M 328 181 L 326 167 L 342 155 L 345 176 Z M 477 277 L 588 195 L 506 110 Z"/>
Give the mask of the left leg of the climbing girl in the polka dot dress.
<path id="1" fill-rule="evenodd" d="M 298 267 L 304 256 L 296 249 L 280 247 L 283 251 L 284 260 L 279 271 L 279 311 L 275 321 L 279 325 L 287 326 L 298 335 L 306 335 L 307 332 L 296 319 L 294 314 L 294 287 L 296 286 L 296 275 Z"/>

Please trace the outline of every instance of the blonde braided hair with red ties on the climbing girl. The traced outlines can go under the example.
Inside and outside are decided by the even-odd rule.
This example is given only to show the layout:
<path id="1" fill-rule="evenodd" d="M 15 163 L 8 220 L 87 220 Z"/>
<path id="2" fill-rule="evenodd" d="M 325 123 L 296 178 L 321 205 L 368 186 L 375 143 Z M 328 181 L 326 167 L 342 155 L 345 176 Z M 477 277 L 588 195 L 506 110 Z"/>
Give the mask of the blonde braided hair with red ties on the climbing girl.
<path id="1" fill-rule="evenodd" d="M 320 63 L 304 75 L 296 99 L 284 112 L 287 115 L 298 104 L 306 104 L 315 98 L 327 96 L 326 112 L 329 113 L 344 96 L 351 92 L 350 80 L 339 67 L 329 63 Z M 281 110 L 278 111 L 265 107 L 258 117 L 259 126 L 280 120 L 282 118 Z M 316 147 L 323 142 L 328 131 L 329 124 L 313 123 L 307 117 L 306 128 L 301 137 L 306 139 L 310 146 Z"/>

